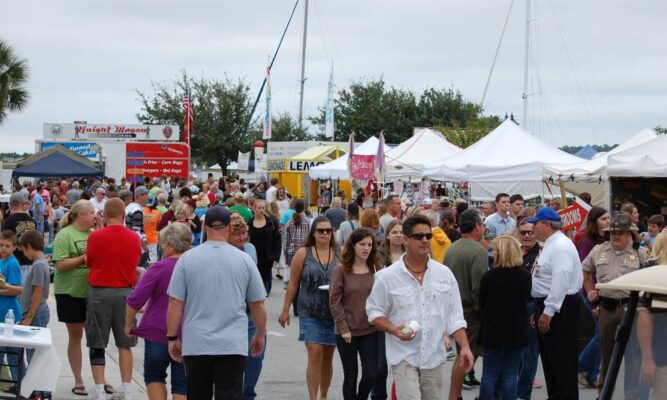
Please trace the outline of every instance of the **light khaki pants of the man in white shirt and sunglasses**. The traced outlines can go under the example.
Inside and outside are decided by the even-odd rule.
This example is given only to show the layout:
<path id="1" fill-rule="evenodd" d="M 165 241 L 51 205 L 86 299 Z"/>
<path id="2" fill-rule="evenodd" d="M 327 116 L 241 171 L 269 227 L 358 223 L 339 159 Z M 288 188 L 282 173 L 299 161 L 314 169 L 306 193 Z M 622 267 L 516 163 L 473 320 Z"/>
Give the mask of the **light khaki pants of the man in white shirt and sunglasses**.
<path id="1" fill-rule="evenodd" d="M 401 400 L 441 400 L 445 381 L 445 364 L 433 369 L 419 369 L 407 361 L 391 367 L 396 381 L 396 395 Z"/>

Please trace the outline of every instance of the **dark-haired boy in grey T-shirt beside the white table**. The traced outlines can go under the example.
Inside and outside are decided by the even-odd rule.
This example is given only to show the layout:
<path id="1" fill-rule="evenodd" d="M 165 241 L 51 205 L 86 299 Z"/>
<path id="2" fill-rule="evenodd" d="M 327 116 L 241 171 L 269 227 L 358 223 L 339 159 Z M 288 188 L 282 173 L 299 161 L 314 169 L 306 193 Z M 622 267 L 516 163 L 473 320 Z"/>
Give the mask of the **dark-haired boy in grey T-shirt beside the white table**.
<path id="1" fill-rule="evenodd" d="M 49 323 L 51 313 L 46 299 L 49 297 L 49 284 L 51 282 L 49 264 L 44 257 L 44 239 L 35 231 L 27 231 L 19 240 L 21 250 L 27 259 L 32 261 L 25 277 L 24 290 L 21 295 L 21 309 L 23 319 L 21 325 L 38 326 L 45 328 Z M 28 363 L 32 360 L 35 351 L 29 349 Z M 42 399 L 50 399 L 51 393 L 37 392 L 36 396 Z"/>

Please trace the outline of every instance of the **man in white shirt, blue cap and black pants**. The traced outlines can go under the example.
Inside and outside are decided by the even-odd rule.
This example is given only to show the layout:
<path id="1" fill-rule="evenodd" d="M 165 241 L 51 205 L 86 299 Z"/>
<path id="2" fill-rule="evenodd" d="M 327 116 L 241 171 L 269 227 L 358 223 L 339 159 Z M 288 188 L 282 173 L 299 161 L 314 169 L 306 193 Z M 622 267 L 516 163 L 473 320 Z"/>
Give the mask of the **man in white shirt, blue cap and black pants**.
<path id="1" fill-rule="evenodd" d="M 528 222 L 544 243 L 533 268 L 532 296 L 548 397 L 577 399 L 579 291 L 584 281 L 579 254 L 552 208 L 540 209 Z"/>

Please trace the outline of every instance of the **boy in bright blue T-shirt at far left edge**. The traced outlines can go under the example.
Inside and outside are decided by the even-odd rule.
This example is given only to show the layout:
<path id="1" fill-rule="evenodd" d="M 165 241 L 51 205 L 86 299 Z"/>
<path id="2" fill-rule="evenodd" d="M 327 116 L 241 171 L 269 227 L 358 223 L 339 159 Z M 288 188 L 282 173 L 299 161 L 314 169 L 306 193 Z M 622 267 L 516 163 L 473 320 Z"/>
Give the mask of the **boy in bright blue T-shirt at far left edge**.
<path id="1" fill-rule="evenodd" d="M 38 235 L 41 236 L 41 234 Z M 4 277 L 4 281 L 0 279 L 0 322 L 4 322 L 5 315 L 10 309 L 14 311 L 14 321 L 20 321 L 22 316 L 19 305 L 22 289 L 21 268 L 14 257 L 14 250 L 16 250 L 16 234 L 10 230 L 0 232 L 0 274 Z M 17 381 L 20 378 L 18 376 L 19 349 L 0 347 L 0 361 L 4 359 L 5 354 L 7 362 L 14 365 L 9 367 L 9 372 L 12 379 Z"/>

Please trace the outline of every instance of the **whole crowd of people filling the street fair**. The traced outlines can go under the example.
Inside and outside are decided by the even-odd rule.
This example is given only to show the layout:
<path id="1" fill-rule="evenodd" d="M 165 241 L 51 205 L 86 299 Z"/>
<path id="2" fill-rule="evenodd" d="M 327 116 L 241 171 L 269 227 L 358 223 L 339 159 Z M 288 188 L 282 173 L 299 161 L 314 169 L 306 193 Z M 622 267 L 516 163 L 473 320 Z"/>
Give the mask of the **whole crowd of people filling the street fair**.
<path id="1" fill-rule="evenodd" d="M 11 309 L 21 324 L 45 327 L 48 261 L 55 266 L 75 395 L 132 398 L 142 338 L 150 399 L 167 398 L 167 376 L 175 399 L 255 398 L 275 276 L 285 289 L 278 322 L 298 317 L 311 400 L 327 398 L 336 350 L 346 400 L 441 399 L 452 359 L 450 400 L 475 386 L 483 400 L 530 399 L 542 385 L 539 358 L 549 398 L 576 399 L 579 386 L 601 389 L 629 295 L 595 283 L 667 262 L 664 218 L 644 228 L 631 203 L 613 216 L 592 207 L 567 236 L 558 201 L 527 207 L 518 194 L 477 209 L 363 190 L 346 202 L 339 192 L 313 215 L 276 178 L 139 181 L 25 182 L 2 215 L 0 315 Z M 579 352 L 582 302 L 595 334 Z M 651 358 L 626 357 L 625 395 L 661 398 L 666 357 L 646 330 L 664 321 L 645 310 L 639 320 L 629 346 Z M 92 387 L 82 377 L 84 333 Z M 111 333 L 118 388 L 105 380 Z M 16 349 L 5 355 L 18 364 Z"/>

